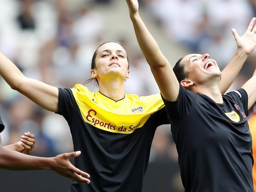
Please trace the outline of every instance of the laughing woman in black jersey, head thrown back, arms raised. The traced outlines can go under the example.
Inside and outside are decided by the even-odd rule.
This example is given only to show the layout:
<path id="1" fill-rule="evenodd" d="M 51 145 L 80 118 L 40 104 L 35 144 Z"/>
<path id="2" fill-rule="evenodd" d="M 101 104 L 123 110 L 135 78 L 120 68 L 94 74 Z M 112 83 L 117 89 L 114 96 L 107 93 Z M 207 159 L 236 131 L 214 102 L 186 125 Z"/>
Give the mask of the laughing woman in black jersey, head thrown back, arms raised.
<path id="1" fill-rule="evenodd" d="M 247 115 L 256 102 L 256 76 L 222 95 L 220 82 L 228 76 L 222 76 L 209 54 L 184 56 L 172 69 L 140 18 L 138 0 L 126 1 L 138 43 L 164 100 L 185 192 L 253 192 Z M 243 36 L 232 29 L 238 46 L 235 60 L 245 61 L 254 50 L 255 21 Z"/>

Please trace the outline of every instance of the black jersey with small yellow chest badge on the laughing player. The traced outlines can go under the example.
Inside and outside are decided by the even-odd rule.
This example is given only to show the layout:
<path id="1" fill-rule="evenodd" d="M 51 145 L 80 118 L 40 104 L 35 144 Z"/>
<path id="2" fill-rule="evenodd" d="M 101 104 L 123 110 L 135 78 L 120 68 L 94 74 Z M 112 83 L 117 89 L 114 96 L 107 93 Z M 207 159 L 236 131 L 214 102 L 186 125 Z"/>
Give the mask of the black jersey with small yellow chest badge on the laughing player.
<path id="1" fill-rule="evenodd" d="M 164 100 L 185 192 L 253 192 L 248 96 L 239 89 L 222 98 L 180 85 L 178 100 Z"/>

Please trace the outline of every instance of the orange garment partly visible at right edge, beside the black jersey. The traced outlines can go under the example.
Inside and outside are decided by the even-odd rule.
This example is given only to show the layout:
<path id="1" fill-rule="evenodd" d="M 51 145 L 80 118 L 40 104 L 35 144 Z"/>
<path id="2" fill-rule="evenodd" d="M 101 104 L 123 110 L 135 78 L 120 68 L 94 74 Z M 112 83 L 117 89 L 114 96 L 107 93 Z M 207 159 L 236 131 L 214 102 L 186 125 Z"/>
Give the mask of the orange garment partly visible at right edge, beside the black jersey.
<path id="1" fill-rule="evenodd" d="M 253 114 L 248 120 L 250 132 L 252 134 L 252 155 L 253 159 L 256 160 L 256 114 Z M 254 184 L 254 192 L 256 192 L 256 165 L 254 163 L 252 167 L 252 180 Z"/>

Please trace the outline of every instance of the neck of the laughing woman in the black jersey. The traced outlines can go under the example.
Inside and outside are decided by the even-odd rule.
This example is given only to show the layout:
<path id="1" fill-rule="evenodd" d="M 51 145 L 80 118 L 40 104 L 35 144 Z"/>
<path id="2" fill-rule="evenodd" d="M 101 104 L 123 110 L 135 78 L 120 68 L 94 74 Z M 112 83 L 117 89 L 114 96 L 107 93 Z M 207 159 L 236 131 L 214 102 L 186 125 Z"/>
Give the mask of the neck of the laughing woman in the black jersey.
<path id="1" fill-rule="evenodd" d="M 197 86 L 193 87 L 192 92 L 197 94 L 204 94 L 214 100 L 216 103 L 223 103 L 222 94 L 218 85 L 215 86 Z"/>

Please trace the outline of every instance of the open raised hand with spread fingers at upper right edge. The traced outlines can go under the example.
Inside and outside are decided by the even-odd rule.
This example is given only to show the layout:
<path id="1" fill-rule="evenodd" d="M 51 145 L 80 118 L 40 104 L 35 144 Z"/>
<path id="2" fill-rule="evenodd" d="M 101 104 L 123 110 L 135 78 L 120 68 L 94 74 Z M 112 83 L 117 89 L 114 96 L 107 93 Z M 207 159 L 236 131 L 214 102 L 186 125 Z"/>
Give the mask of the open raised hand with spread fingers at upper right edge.
<path id="1" fill-rule="evenodd" d="M 256 47 L 256 26 L 254 23 L 256 18 L 252 18 L 246 32 L 243 36 L 239 36 L 235 29 L 231 29 L 236 40 L 238 49 L 243 50 L 246 54 L 250 54 Z"/>

